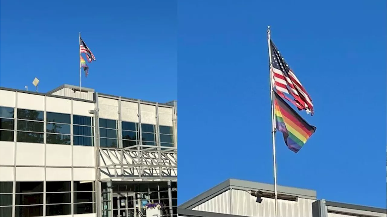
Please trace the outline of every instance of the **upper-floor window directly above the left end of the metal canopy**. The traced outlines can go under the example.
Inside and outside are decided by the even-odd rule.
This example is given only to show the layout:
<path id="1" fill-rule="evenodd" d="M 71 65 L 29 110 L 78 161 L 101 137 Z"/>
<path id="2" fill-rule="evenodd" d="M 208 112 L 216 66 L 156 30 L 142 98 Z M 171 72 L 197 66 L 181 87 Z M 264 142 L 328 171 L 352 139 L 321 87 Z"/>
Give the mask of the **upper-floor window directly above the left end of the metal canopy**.
<path id="1" fill-rule="evenodd" d="M 116 120 L 99 119 L 99 146 L 118 147 Z"/>

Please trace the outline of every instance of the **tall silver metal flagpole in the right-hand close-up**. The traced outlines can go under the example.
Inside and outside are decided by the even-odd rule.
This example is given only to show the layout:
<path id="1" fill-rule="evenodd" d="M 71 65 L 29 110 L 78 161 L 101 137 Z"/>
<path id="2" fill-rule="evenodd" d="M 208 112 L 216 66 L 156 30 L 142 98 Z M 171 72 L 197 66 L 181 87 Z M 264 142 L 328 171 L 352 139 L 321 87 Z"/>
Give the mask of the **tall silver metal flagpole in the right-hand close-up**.
<path id="1" fill-rule="evenodd" d="M 269 71 L 270 71 L 270 98 L 271 98 L 271 135 L 273 142 L 273 168 L 274 168 L 274 199 L 276 217 L 278 217 L 278 192 L 277 192 L 277 163 L 276 163 L 276 119 L 274 118 L 274 77 L 272 75 L 270 26 L 267 27 L 267 45 L 269 46 Z"/>

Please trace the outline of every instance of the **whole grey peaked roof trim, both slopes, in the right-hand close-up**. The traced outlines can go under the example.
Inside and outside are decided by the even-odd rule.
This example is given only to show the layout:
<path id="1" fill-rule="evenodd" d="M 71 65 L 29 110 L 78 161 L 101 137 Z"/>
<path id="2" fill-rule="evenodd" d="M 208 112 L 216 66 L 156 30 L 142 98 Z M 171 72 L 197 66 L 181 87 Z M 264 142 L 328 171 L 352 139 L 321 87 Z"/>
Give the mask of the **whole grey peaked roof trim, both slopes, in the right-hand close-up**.
<path id="1" fill-rule="evenodd" d="M 274 192 L 274 185 L 259 183 L 253 181 L 245 181 L 245 180 L 237 180 L 237 179 L 228 179 L 223 181 L 219 185 L 201 193 L 200 195 L 188 200 L 187 202 L 180 205 L 178 208 L 180 209 L 193 209 L 194 207 L 204 203 L 211 198 L 216 197 L 217 195 L 226 192 L 230 189 L 238 189 L 238 190 L 263 190 L 267 192 Z M 307 190 L 301 188 L 293 188 L 287 186 L 278 186 L 278 193 L 285 195 L 293 195 L 301 198 L 308 198 L 316 200 L 316 191 Z"/>

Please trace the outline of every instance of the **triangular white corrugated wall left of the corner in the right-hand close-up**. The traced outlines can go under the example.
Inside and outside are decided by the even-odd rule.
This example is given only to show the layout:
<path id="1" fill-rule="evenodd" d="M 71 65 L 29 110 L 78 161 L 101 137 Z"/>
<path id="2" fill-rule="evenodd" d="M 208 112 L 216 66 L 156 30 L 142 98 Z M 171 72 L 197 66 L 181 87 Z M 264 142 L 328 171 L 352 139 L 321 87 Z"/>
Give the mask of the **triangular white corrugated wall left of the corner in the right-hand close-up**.
<path id="1" fill-rule="evenodd" d="M 231 214 L 230 212 L 230 191 L 226 191 L 216 197 L 195 207 L 193 210 Z"/>

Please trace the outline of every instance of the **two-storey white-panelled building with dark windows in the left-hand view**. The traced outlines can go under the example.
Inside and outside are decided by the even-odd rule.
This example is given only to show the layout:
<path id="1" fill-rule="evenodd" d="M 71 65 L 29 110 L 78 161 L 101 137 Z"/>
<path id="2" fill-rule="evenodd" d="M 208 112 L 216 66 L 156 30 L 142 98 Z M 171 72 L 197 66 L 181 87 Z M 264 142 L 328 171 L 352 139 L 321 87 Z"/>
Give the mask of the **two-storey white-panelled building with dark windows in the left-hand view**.
<path id="1" fill-rule="evenodd" d="M 0 216 L 176 215 L 177 104 L 0 88 Z"/>

